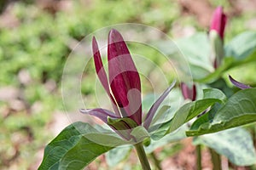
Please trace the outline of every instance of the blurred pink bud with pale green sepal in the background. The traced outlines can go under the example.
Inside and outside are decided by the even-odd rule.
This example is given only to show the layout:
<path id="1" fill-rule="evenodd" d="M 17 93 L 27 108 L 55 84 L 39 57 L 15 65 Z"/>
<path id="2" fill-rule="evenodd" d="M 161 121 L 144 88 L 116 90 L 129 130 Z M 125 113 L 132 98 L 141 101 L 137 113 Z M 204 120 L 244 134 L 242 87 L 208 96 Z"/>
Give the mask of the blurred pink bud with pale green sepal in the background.
<path id="1" fill-rule="evenodd" d="M 209 31 L 209 38 L 212 47 L 211 59 L 214 68 L 218 68 L 224 58 L 224 29 L 227 17 L 222 7 L 215 9 L 212 15 L 212 23 Z"/>

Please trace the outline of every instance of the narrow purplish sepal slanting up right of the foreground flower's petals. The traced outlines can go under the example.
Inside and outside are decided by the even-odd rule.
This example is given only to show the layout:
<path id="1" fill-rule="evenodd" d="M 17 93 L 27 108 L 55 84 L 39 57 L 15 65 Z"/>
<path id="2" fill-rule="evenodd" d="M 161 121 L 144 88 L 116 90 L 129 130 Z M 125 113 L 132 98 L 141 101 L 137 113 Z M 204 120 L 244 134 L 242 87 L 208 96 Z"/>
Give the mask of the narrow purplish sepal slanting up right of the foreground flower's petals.
<path id="1" fill-rule="evenodd" d="M 157 99 L 154 104 L 151 106 L 151 108 L 148 111 L 148 114 L 146 116 L 146 119 L 143 123 L 143 126 L 148 129 L 150 123 L 152 122 L 152 119 L 154 117 L 155 112 L 159 108 L 160 104 L 163 102 L 164 99 L 166 99 L 166 96 L 171 92 L 172 88 L 174 87 L 176 81 L 173 81 L 171 86 L 166 89 L 166 91 L 160 95 L 160 98 Z"/>

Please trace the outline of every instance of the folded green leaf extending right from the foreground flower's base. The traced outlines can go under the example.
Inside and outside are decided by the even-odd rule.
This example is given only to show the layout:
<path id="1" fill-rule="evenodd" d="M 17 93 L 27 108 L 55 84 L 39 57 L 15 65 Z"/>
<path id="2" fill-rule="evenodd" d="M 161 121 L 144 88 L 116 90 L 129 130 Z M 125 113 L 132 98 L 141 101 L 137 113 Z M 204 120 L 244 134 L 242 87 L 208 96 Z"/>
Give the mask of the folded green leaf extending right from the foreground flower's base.
<path id="1" fill-rule="evenodd" d="M 160 139 L 166 133 L 172 133 L 178 127 L 181 127 L 185 122 L 189 122 L 195 116 L 205 111 L 208 107 L 216 102 L 221 102 L 220 99 L 201 99 L 183 105 L 177 110 L 171 121 L 164 122 L 149 128 L 152 139 Z"/>

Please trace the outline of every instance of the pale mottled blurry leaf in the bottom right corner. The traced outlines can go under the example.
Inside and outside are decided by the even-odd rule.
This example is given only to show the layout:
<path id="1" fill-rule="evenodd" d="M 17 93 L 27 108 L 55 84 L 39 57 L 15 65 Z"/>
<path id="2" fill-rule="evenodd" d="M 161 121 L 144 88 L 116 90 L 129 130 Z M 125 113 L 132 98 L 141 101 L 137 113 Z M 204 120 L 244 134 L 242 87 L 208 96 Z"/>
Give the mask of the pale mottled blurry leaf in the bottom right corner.
<path id="1" fill-rule="evenodd" d="M 204 144 L 226 156 L 237 166 L 248 166 L 256 163 L 256 151 L 253 139 L 241 127 L 218 133 L 205 134 L 194 139 L 194 144 Z"/>

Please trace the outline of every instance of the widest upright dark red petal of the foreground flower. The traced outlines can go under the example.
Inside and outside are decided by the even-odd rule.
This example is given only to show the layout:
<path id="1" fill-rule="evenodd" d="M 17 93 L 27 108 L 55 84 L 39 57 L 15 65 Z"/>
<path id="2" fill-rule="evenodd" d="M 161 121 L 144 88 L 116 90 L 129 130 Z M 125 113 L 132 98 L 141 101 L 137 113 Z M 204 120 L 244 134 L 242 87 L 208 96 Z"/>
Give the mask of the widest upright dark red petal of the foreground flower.
<path id="1" fill-rule="evenodd" d="M 108 71 L 110 87 L 122 116 L 128 116 L 140 125 L 142 123 L 140 77 L 123 37 L 116 30 L 111 30 L 108 35 Z"/>

